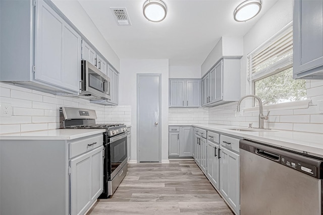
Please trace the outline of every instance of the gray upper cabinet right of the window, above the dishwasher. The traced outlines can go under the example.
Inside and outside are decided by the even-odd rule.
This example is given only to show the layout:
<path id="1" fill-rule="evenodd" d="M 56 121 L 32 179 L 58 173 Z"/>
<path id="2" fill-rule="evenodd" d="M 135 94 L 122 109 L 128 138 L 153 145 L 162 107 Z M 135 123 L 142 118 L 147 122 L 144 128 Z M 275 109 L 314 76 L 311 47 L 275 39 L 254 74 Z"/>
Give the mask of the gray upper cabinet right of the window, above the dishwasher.
<path id="1" fill-rule="evenodd" d="M 294 0 L 294 79 L 323 79 L 322 20 L 323 1 Z"/>

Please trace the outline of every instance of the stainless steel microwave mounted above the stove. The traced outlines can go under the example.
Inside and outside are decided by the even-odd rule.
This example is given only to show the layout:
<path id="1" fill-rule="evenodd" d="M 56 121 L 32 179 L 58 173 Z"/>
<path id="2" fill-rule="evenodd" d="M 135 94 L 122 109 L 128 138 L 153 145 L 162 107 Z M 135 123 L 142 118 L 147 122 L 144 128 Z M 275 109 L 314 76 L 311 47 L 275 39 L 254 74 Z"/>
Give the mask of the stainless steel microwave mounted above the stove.
<path id="1" fill-rule="evenodd" d="M 87 60 L 81 61 L 81 93 L 89 100 L 110 100 L 110 78 Z"/>

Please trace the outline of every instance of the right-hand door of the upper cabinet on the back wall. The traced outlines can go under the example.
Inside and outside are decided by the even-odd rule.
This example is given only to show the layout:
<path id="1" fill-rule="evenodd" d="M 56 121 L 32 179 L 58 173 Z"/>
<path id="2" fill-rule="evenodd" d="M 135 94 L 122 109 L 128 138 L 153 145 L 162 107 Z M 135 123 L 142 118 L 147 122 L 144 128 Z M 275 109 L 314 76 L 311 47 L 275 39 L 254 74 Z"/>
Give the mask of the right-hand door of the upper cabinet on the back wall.
<path id="1" fill-rule="evenodd" d="M 186 107 L 200 106 L 200 81 L 187 80 L 186 81 Z"/>

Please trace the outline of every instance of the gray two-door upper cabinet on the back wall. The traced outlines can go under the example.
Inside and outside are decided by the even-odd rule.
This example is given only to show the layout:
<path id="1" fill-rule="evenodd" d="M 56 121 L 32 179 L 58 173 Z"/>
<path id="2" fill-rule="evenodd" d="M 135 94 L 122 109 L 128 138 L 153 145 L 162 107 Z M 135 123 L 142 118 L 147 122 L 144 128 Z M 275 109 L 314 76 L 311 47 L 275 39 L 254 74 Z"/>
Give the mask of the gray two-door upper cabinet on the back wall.
<path id="1" fill-rule="evenodd" d="M 199 107 L 199 79 L 170 79 L 169 107 Z"/>

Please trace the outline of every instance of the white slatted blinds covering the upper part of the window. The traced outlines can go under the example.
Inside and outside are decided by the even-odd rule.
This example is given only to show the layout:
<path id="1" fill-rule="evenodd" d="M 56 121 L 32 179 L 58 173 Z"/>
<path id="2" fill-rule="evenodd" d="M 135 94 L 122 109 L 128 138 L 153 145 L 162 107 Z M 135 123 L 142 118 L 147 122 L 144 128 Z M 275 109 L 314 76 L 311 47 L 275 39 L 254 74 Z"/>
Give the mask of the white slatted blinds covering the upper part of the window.
<path id="1" fill-rule="evenodd" d="M 293 27 L 289 25 L 248 55 L 248 81 L 257 81 L 279 73 L 291 67 L 292 63 Z"/>

